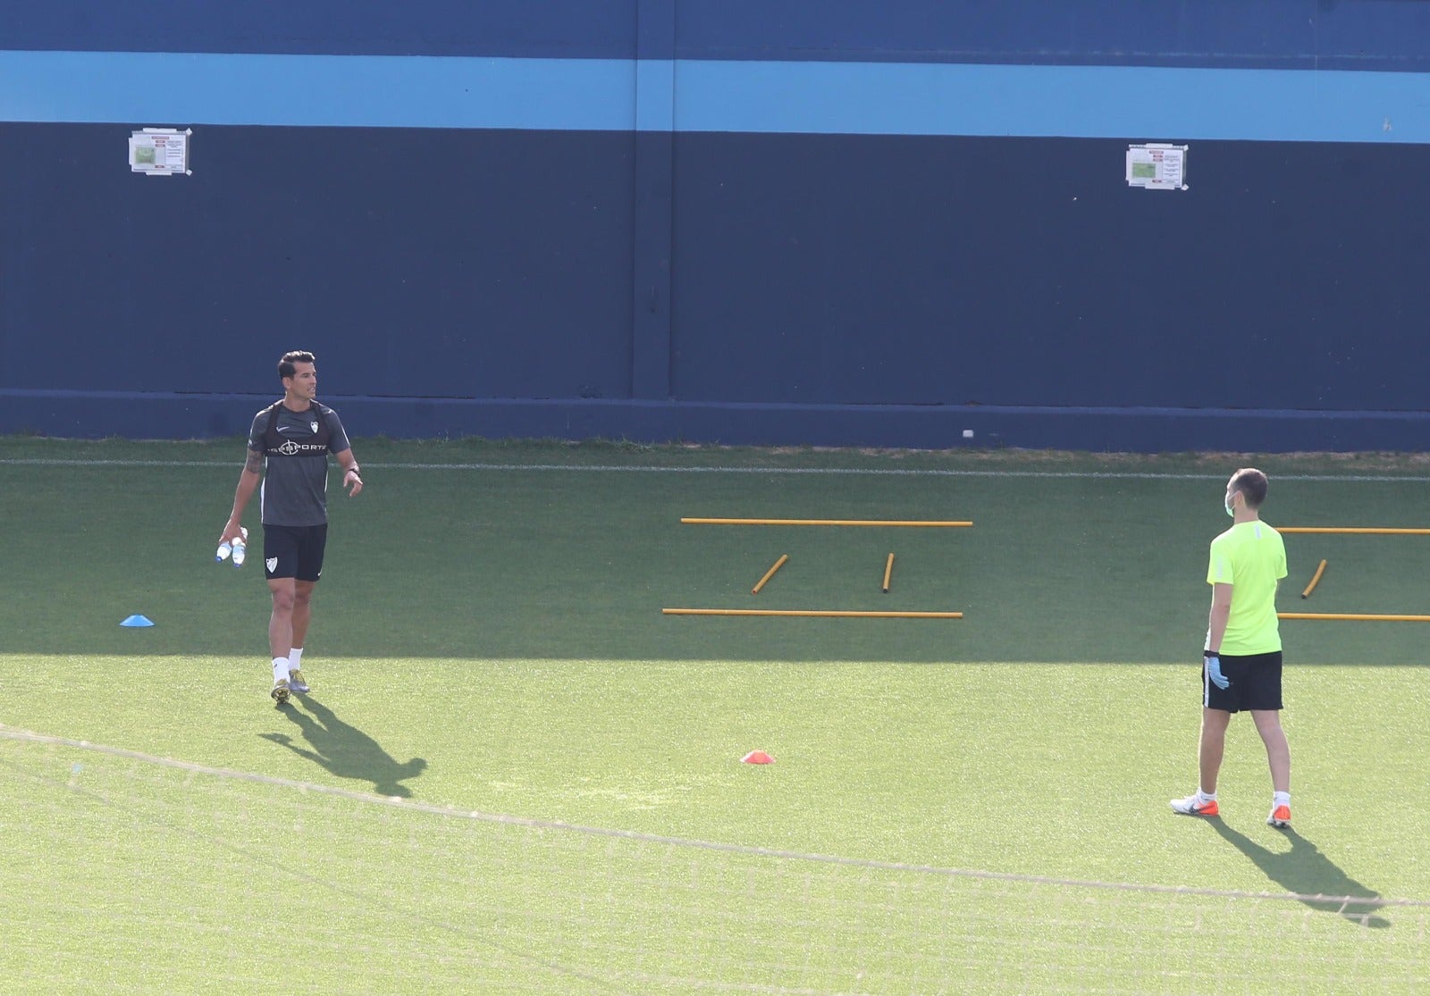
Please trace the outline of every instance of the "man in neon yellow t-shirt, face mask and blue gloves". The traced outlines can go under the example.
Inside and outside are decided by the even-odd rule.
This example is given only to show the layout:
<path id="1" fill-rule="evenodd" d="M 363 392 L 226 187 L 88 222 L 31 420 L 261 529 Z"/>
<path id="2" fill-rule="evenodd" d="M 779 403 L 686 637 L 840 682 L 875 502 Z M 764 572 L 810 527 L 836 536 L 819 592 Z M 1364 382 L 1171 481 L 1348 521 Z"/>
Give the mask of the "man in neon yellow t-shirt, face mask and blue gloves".
<path id="1" fill-rule="evenodd" d="M 1270 826 L 1291 825 L 1291 749 L 1281 729 L 1281 632 L 1276 586 L 1286 577 L 1281 534 L 1261 522 L 1266 474 L 1244 467 L 1227 482 L 1231 529 L 1211 540 L 1207 583 L 1211 614 L 1201 666 L 1201 785 L 1171 807 L 1185 816 L 1217 816 L 1217 773 L 1231 713 L 1250 712 L 1271 767 Z"/>

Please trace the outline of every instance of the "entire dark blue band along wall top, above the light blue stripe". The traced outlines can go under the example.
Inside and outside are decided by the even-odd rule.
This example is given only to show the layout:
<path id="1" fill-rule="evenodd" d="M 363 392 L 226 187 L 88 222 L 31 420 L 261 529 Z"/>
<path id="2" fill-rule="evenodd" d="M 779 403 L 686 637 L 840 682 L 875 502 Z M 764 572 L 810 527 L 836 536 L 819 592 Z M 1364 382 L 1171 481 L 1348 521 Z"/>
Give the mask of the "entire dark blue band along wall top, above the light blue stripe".
<path id="1" fill-rule="evenodd" d="M 1421 0 L 7 0 L 0 49 L 1430 67 Z"/>

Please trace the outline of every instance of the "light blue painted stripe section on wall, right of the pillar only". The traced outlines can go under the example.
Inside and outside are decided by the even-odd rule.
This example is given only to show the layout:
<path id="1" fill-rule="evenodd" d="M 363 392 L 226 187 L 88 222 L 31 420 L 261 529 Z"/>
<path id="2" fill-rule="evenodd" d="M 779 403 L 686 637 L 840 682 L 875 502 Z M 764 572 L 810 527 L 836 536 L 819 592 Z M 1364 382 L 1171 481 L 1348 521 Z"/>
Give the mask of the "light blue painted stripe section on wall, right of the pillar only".
<path id="1" fill-rule="evenodd" d="M 681 131 L 1430 141 L 1430 74 L 681 61 Z"/>

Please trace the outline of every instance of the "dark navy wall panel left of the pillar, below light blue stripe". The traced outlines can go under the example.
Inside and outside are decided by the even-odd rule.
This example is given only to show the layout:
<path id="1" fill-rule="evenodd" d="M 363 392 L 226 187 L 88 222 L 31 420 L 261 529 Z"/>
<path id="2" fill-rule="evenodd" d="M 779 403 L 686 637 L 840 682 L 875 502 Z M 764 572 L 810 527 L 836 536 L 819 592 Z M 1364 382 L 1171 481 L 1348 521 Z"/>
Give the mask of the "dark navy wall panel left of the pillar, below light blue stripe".
<path id="1" fill-rule="evenodd" d="M 6 387 L 263 393 L 309 343 L 337 390 L 629 394 L 631 134 L 204 129 L 154 179 L 124 129 L 6 130 L 50 160 L 0 193 Z"/>

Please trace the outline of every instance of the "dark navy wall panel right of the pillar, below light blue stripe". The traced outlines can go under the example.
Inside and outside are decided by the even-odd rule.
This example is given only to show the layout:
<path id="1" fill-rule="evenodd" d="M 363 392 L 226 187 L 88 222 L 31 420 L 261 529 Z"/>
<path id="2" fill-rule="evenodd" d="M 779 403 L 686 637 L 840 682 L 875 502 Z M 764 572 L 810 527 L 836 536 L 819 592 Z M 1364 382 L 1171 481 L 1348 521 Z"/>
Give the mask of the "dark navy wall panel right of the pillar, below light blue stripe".
<path id="1" fill-rule="evenodd" d="M 675 393 L 1421 407 L 1427 146 L 679 136 Z M 1050 169 L 1050 164 L 1054 164 Z M 851 191 L 858 191 L 851 196 Z M 738 247 L 738 252 L 734 252 Z"/>

